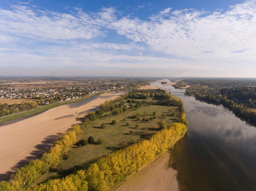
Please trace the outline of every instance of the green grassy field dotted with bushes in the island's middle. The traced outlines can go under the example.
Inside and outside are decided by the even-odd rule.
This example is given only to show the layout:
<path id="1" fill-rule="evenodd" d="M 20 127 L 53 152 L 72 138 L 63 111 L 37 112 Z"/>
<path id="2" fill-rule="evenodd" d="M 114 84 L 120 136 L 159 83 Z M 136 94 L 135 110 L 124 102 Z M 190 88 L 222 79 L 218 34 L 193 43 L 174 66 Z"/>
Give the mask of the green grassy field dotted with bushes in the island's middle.
<path id="1" fill-rule="evenodd" d="M 149 98 L 148 100 L 151 99 L 152 98 Z M 175 116 L 170 116 L 170 112 L 168 111 L 170 109 L 175 111 Z M 132 118 L 132 115 L 136 115 L 136 113 L 140 113 L 141 119 L 143 117 L 150 118 L 153 117 L 152 113 L 154 111 L 157 112 L 157 115 L 152 121 L 137 121 L 137 119 Z M 163 118 L 161 116 L 162 114 L 166 117 Z M 149 105 L 139 107 L 137 110 L 128 110 L 120 115 L 112 115 L 107 118 L 91 121 L 91 124 L 84 129 L 83 134 L 78 138 L 78 141 L 81 139 L 87 140 L 89 136 L 92 136 L 95 140 L 94 144 L 88 144 L 81 148 L 74 145 L 70 151 L 64 155 L 64 159 L 60 161 L 57 168 L 53 169 L 52 172 L 43 175 L 38 182 L 63 177 L 78 169 L 86 169 L 91 163 L 99 158 L 129 145 L 131 139 L 136 142 L 150 139 L 150 137 L 158 131 L 158 123 L 161 120 L 166 121 L 167 125 L 170 126 L 171 123 L 177 121 L 179 116 L 180 111 L 178 107 Z M 123 121 L 123 119 L 125 119 L 125 121 Z M 116 120 L 117 123 L 111 125 L 110 123 L 112 120 Z M 102 123 L 107 124 L 107 127 L 101 129 L 100 126 Z M 126 126 L 126 123 L 129 123 L 130 125 Z M 139 125 L 138 129 L 135 128 L 136 124 Z M 133 131 L 133 133 L 130 134 L 130 131 Z M 103 144 L 98 144 L 97 140 L 99 138 L 104 139 L 105 142 Z"/>

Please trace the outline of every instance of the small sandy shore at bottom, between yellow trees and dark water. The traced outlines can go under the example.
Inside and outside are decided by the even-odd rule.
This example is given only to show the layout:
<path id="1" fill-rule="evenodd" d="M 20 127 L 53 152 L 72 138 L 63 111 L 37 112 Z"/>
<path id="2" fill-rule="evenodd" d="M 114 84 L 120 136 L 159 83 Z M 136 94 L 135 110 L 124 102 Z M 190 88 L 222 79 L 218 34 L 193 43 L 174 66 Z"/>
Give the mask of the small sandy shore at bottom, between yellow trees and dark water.
<path id="1" fill-rule="evenodd" d="M 136 175 L 129 178 L 116 191 L 176 191 L 178 182 L 177 171 L 168 168 L 170 153 L 166 152 L 158 159 L 145 166 Z"/>

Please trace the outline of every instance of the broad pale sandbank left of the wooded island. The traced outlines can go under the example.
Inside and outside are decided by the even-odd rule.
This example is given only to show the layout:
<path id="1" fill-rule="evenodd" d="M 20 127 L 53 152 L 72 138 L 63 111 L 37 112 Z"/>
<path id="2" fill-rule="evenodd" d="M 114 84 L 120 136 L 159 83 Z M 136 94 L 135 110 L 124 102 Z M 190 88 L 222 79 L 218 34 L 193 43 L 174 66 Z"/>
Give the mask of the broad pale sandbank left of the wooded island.
<path id="1" fill-rule="evenodd" d="M 103 93 L 97 99 L 79 107 L 62 105 L 22 121 L 1 126 L 0 180 L 6 173 L 9 174 L 16 167 L 23 166 L 28 159 L 34 159 L 42 154 L 47 144 L 56 140 L 57 133 L 64 133 L 72 124 L 79 123 L 76 118 L 85 115 L 78 115 L 79 112 L 93 109 L 105 100 L 114 99 L 122 94 L 124 93 Z"/>

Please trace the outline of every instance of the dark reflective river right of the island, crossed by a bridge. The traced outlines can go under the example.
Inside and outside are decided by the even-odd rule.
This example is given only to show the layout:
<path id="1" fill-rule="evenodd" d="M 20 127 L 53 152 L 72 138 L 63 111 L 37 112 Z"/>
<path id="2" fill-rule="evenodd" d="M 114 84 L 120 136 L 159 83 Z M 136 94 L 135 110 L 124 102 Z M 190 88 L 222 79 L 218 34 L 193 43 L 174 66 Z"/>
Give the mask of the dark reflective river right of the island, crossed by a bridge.
<path id="1" fill-rule="evenodd" d="M 169 81 L 163 79 L 163 81 Z M 185 92 L 160 82 L 171 92 Z M 256 127 L 216 106 L 172 93 L 184 101 L 189 128 L 170 155 L 180 190 L 256 190 Z"/>

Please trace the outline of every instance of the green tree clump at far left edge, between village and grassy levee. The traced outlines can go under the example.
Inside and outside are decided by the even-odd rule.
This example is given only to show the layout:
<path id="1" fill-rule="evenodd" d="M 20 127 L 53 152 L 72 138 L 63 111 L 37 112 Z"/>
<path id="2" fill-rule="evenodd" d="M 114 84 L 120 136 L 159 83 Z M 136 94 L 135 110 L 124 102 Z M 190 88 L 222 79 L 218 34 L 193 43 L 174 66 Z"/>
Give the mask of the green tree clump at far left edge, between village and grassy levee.
<path id="1" fill-rule="evenodd" d="M 28 109 L 33 109 L 38 106 L 37 102 L 22 102 L 22 103 L 14 103 L 14 104 L 1 104 L 0 103 L 0 117 L 5 115 L 10 115 L 17 112 L 22 112 Z"/>

